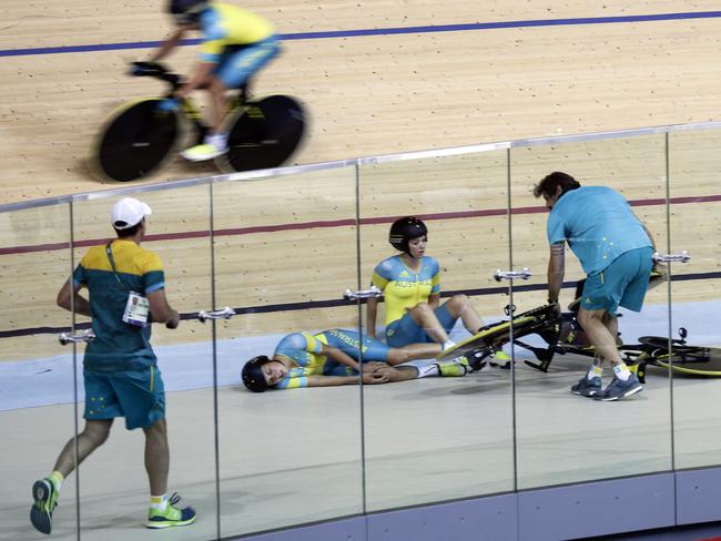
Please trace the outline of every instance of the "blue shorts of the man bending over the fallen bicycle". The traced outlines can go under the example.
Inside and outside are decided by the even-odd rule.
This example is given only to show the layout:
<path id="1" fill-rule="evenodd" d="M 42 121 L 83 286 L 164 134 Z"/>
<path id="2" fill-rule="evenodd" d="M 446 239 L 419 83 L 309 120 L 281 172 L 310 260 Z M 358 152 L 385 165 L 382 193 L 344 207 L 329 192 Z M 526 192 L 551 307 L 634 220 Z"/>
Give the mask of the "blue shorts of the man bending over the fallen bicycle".
<path id="1" fill-rule="evenodd" d="M 600 273 L 590 274 L 581 295 L 581 308 L 605 309 L 611 316 L 619 306 L 641 312 L 653 268 L 653 248 L 647 246 L 626 252 Z"/>

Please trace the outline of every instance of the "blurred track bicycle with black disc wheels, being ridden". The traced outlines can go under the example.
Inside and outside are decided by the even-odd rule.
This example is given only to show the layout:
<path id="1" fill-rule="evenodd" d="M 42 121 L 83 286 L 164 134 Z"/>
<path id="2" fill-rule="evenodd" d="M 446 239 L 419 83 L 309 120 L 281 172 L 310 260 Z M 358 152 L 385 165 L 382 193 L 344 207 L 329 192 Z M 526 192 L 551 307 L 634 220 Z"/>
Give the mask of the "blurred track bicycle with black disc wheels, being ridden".
<path id="1" fill-rule="evenodd" d="M 129 182 L 148 176 L 181 144 L 200 144 L 207 132 L 201 111 L 187 98 L 173 111 L 161 102 L 183 84 L 183 78 L 158 62 L 136 62 L 138 76 L 159 79 L 170 91 L 160 98 L 130 101 L 100 129 L 92 146 L 90 170 L 103 181 Z M 298 147 L 305 132 L 302 105 L 288 95 L 248 98 L 248 83 L 230 96 L 224 131 L 227 152 L 215 159 L 221 172 L 252 171 L 282 165 Z M 190 140 L 190 141 L 186 141 Z"/>

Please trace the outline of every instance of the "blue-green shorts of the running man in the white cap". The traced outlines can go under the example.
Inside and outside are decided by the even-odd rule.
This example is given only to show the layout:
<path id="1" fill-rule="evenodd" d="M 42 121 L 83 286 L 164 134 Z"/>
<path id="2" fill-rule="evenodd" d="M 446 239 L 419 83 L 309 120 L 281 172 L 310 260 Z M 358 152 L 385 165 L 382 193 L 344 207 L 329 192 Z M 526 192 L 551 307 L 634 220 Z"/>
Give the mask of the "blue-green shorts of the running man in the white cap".
<path id="1" fill-rule="evenodd" d="M 125 418 L 128 430 L 165 417 L 165 389 L 158 367 L 124 372 L 83 370 L 85 419 Z"/>

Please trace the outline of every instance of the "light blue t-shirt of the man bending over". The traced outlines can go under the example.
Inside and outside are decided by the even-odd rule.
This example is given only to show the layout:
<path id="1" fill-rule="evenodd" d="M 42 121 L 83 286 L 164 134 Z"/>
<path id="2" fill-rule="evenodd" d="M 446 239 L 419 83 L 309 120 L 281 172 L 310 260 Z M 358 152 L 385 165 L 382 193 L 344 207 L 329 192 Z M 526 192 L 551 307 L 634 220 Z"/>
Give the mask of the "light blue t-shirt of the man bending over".
<path id="1" fill-rule="evenodd" d="M 652 246 L 626 198 L 606 186 L 566 192 L 548 215 L 548 242 L 568 242 L 587 275 L 600 273 L 619 255 Z"/>

